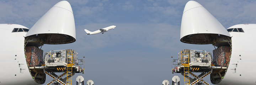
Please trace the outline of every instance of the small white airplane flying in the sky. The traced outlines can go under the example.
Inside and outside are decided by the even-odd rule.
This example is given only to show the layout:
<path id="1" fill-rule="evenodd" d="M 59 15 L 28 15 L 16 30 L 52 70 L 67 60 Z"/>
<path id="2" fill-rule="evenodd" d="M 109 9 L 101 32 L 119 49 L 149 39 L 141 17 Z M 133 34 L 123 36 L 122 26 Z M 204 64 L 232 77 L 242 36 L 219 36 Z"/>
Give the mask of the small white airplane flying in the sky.
<path id="1" fill-rule="evenodd" d="M 96 30 L 94 32 L 90 32 L 89 30 L 85 29 L 85 32 L 87 33 L 86 35 L 92 35 L 92 34 L 98 34 L 98 33 L 104 33 L 104 32 L 107 32 L 108 30 L 110 29 L 114 29 L 116 26 L 110 26 L 110 27 L 106 27 L 106 28 L 103 28 L 103 29 L 99 29 L 99 30 Z"/>

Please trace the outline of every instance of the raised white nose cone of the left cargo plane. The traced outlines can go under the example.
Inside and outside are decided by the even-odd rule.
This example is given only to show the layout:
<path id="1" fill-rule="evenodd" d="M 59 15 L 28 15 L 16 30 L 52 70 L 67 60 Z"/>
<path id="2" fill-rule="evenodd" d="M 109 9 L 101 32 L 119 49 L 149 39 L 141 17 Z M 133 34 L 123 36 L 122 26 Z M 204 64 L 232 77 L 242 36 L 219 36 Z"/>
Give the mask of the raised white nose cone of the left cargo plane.
<path id="1" fill-rule="evenodd" d="M 26 38 L 40 38 L 43 44 L 67 44 L 76 41 L 75 21 L 68 1 L 60 1 L 28 31 Z"/>

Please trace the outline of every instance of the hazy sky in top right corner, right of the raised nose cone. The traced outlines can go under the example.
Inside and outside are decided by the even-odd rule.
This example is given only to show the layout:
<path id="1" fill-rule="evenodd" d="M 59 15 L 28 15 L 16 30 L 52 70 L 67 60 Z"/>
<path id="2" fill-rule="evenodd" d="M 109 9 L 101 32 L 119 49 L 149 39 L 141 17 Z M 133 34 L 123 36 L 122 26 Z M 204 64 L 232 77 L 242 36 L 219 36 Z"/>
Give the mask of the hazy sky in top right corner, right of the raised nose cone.
<path id="1" fill-rule="evenodd" d="M 214 0 L 200 1 L 225 28 L 236 24 L 256 23 L 256 1 Z"/>

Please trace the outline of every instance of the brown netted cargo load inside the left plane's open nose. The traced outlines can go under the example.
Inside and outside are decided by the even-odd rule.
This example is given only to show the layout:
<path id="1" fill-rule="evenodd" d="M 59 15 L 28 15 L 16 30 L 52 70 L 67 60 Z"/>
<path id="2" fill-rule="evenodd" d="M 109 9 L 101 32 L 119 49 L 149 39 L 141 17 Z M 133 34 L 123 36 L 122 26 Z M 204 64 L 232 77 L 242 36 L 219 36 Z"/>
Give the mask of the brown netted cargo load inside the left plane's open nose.
<path id="1" fill-rule="evenodd" d="M 26 61 L 29 67 L 43 64 L 43 50 L 38 47 L 25 47 Z"/>

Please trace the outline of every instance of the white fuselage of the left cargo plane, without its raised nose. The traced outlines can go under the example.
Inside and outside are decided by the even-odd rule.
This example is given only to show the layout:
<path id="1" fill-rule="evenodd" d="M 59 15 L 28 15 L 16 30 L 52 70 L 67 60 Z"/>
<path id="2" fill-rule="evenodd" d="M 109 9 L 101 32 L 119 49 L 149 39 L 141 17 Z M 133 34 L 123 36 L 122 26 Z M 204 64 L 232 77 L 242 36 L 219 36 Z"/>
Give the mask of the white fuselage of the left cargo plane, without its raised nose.
<path id="1" fill-rule="evenodd" d="M 26 27 L 0 24 L 0 85 L 38 85 L 31 77 L 25 58 L 24 36 L 27 32 L 12 32 L 14 28 Z"/>

